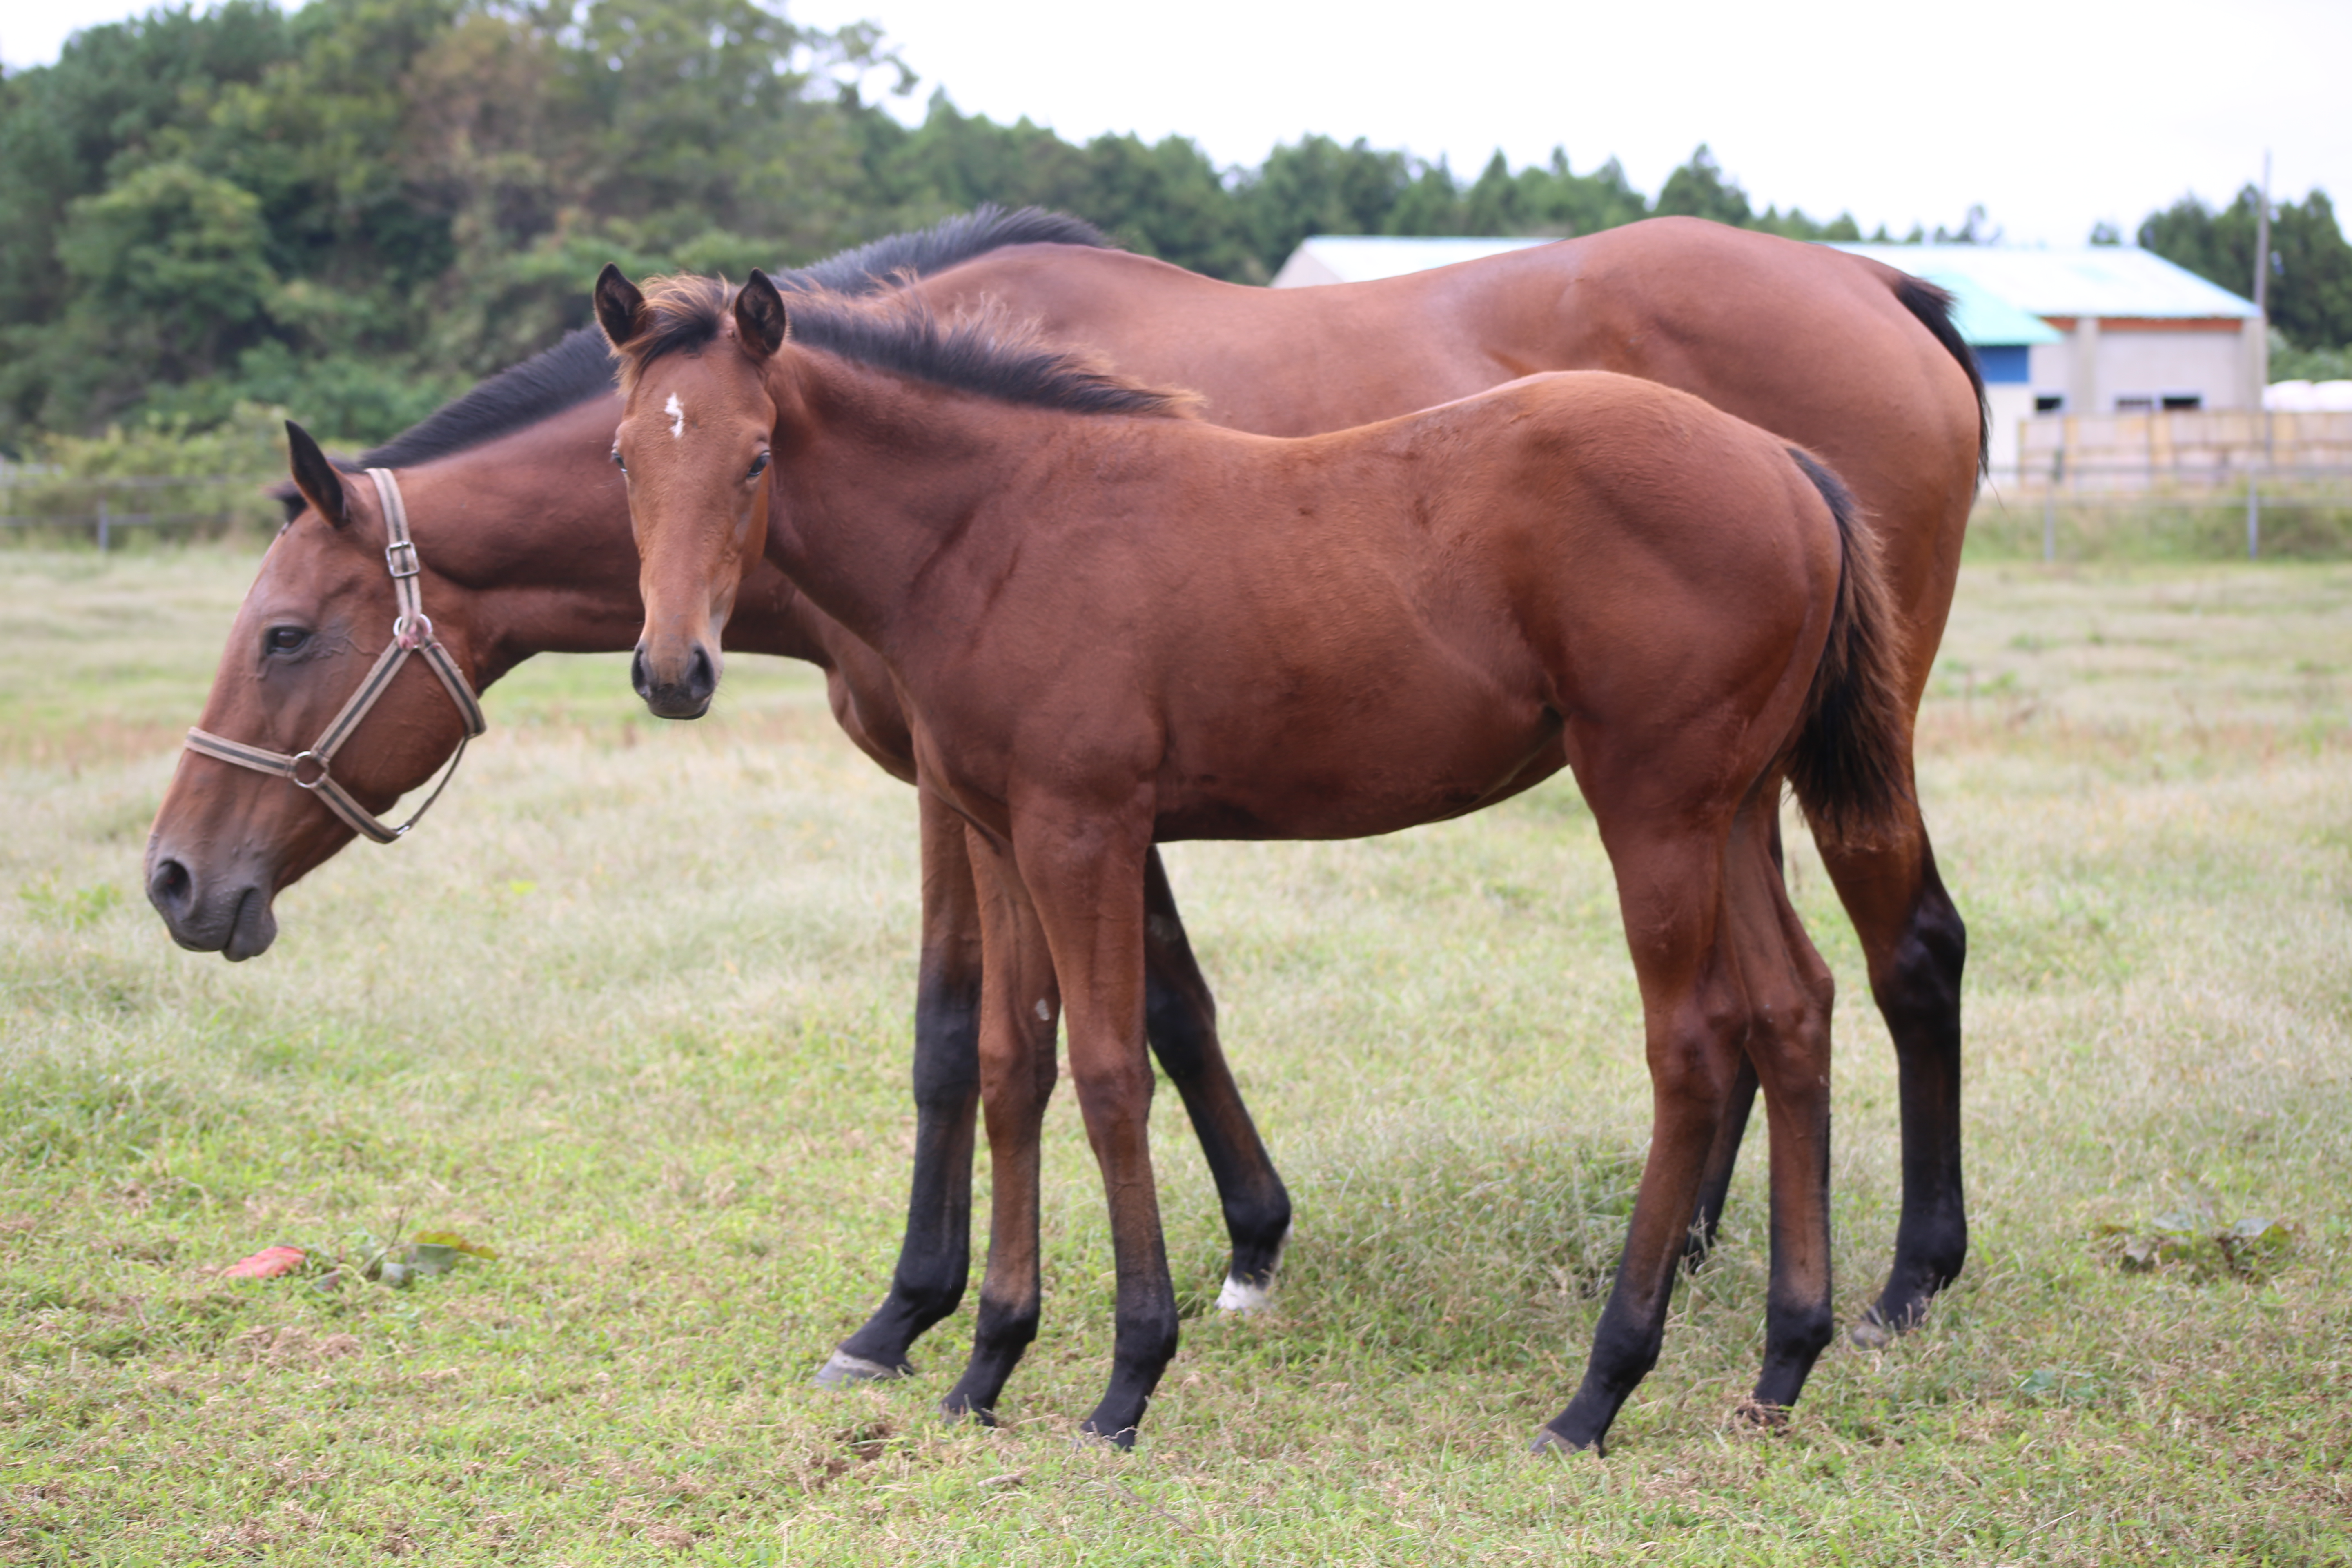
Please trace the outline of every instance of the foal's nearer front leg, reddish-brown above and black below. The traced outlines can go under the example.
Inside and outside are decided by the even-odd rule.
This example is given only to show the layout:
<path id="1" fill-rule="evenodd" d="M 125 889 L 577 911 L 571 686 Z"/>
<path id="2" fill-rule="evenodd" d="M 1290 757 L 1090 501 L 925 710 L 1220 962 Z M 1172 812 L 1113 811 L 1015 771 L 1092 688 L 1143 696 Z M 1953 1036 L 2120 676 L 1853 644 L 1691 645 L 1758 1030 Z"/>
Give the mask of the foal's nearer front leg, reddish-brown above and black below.
<path id="1" fill-rule="evenodd" d="M 1176 1286 L 1152 1180 L 1152 1067 L 1143 1056 L 1143 858 L 1150 811 L 1117 818 L 1030 813 L 1014 853 L 1054 947 L 1068 1006 L 1070 1079 L 1087 1117 L 1117 1262 L 1110 1387 L 1087 1432 L 1120 1448 L 1176 1356 Z"/>

